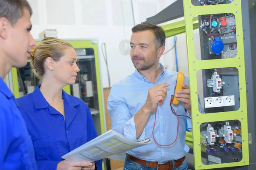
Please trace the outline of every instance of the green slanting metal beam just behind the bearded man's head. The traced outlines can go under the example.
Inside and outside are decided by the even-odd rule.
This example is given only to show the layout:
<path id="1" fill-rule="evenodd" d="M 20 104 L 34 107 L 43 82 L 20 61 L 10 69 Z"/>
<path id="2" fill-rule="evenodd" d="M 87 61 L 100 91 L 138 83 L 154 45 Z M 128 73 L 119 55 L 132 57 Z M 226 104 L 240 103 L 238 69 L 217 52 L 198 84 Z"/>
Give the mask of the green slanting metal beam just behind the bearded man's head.
<path id="1" fill-rule="evenodd" d="M 185 30 L 185 20 L 177 21 L 175 23 L 166 24 L 161 26 L 166 34 L 166 38 L 175 36 L 177 34 L 184 33 Z M 198 28 L 198 17 L 193 18 L 193 29 Z"/>

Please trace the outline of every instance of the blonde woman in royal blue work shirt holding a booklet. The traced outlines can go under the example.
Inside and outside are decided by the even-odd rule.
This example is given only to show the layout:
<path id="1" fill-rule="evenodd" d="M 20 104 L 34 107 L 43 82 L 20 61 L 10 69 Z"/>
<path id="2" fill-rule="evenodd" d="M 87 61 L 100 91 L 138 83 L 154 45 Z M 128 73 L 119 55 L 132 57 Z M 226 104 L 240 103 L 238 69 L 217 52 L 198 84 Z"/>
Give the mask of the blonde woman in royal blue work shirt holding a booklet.
<path id="1" fill-rule="evenodd" d="M 39 170 L 102 170 L 102 160 L 75 162 L 66 153 L 97 137 L 89 107 L 62 88 L 76 81 L 79 68 L 72 45 L 46 38 L 30 54 L 40 84 L 17 99 L 35 148 Z"/>

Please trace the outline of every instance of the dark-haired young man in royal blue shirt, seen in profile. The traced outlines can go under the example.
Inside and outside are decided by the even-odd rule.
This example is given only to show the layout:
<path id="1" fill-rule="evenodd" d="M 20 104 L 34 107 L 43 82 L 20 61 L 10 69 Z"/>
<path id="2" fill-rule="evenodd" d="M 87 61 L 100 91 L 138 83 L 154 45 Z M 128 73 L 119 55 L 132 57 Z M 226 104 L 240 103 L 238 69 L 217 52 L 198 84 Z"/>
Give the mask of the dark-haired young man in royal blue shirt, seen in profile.
<path id="1" fill-rule="evenodd" d="M 0 170 L 37 170 L 35 151 L 19 106 L 3 78 L 24 67 L 35 40 L 26 0 L 0 0 Z"/>

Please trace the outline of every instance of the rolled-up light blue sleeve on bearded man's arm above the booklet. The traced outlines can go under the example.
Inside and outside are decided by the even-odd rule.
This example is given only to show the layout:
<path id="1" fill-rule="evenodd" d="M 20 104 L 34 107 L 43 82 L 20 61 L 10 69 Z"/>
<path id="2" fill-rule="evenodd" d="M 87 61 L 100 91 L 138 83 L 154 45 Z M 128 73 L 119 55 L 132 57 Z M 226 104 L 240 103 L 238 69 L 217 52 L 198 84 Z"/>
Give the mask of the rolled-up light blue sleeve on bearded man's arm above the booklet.
<path id="1" fill-rule="evenodd" d="M 119 91 L 118 85 L 113 85 L 108 97 L 108 112 L 111 119 L 111 127 L 123 136 L 133 141 L 145 139 L 145 129 L 140 138 L 136 138 L 134 116 L 131 115 L 125 99 Z"/>

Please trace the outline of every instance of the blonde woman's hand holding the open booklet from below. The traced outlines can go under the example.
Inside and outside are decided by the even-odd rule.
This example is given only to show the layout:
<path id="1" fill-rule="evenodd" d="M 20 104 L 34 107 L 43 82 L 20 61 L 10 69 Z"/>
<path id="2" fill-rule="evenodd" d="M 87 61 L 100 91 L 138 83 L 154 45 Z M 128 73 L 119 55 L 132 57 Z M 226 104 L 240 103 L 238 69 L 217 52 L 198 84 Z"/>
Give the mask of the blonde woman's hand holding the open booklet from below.
<path id="1" fill-rule="evenodd" d="M 57 170 L 94 170 L 94 162 L 76 162 L 76 161 L 60 161 L 57 166 Z"/>

